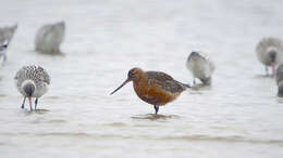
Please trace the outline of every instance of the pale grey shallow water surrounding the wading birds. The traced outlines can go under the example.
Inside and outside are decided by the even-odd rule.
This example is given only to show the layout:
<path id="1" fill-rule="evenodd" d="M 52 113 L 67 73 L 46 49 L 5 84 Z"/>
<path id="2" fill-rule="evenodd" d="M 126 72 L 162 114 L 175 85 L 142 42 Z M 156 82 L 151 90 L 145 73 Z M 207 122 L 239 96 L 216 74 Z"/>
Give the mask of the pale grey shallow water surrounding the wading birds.
<path id="1" fill-rule="evenodd" d="M 19 23 L 0 68 L 0 157 L 283 156 L 283 98 L 255 47 L 283 37 L 283 1 L 19 1 L 0 5 L 1 25 Z M 35 53 L 36 30 L 64 19 L 64 56 Z M 211 88 L 185 91 L 160 107 L 132 83 L 109 95 L 132 67 L 192 82 L 192 50 L 216 62 Z M 40 111 L 21 109 L 13 77 L 38 64 L 51 76 Z"/>

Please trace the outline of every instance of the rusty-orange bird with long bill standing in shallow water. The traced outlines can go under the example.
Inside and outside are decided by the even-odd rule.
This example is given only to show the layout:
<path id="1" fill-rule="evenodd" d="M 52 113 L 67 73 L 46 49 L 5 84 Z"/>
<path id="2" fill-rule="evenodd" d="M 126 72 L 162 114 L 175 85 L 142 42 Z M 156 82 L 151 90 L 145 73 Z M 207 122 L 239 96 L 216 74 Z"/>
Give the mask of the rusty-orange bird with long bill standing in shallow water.
<path id="1" fill-rule="evenodd" d="M 127 74 L 127 79 L 111 94 L 130 81 L 134 82 L 134 90 L 138 97 L 155 106 L 156 115 L 159 106 L 174 101 L 184 90 L 189 88 L 188 84 L 181 83 L 164 73 L 132 68 Z"/>

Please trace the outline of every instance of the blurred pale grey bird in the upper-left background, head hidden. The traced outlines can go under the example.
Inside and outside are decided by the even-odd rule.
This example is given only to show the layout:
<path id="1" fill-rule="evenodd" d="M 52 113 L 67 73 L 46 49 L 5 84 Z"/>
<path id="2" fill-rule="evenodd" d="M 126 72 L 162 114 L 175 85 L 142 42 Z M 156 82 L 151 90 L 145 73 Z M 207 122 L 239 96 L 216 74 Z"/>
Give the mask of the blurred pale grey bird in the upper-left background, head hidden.
<path id="1" fill-rule="evenodd" d="M 65 23 L 44 25 L 36 34 L 35 50 L 45 54 L 61 54 L 60 45 L 65 36 Z"/>

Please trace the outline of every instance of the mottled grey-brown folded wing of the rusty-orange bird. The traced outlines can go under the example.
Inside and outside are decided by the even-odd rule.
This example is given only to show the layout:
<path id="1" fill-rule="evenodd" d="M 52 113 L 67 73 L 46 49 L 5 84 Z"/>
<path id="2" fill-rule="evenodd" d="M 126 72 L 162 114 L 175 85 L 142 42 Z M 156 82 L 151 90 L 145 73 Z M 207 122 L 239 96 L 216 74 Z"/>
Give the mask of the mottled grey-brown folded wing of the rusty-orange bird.
<path id="1" fill-rule="evenodd" d="M 177 93 L 184 91 L 186 88 L 171 76 L 161 71 L 147 71 L 147 77 L 150 82 L 158 83 L 165 91 Z"/>

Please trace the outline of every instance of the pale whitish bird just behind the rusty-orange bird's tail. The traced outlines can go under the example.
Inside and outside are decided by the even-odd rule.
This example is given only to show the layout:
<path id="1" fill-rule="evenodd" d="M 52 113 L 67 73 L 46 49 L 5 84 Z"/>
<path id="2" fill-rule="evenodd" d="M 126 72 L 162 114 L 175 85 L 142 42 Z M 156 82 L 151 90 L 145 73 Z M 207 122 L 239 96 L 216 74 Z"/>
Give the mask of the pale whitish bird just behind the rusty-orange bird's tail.
<path id="1" fill-rule="evenodd" d="M 194 76 L 194 84 L 196 84 L 196 78 L 204 84 L 211 83 L 216 66 L 206 55 L 193 51 L 187 58 L 186 66 Z"/>

